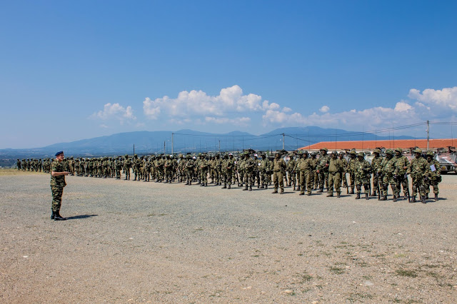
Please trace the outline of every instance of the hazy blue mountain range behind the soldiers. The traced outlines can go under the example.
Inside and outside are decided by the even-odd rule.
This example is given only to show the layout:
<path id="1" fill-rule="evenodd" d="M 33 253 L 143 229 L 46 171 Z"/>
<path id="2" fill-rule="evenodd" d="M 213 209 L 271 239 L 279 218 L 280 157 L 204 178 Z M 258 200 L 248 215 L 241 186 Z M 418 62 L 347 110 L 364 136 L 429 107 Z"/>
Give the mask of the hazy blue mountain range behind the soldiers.
<path id="1" fill-rule="evenodd" d="M 395 136 L 396 139 L 413 139 L 411 136 Z M 282 149 L 295 150 L 321 141 L 363 141 L 392 139 L 373 133 L 351 132 L 335 128 L 316 126 L 277 128 L 268 133 L 254 136 L 251 133 L 206 133 L 189 129 L 179 131 L 137 131 L 116 133 L 111 136 L 82 139 L 69 143 L 55 143 L 42 148 L 1 149 L 0 166 L 11 166 L 16 158 L 47 158 L 63 150 L 66 156 L 113 156 L 124 154 L 199 153 L 203 151 L 242 151 Z M 284 140 L 284 141 L 283 141 Z"/>

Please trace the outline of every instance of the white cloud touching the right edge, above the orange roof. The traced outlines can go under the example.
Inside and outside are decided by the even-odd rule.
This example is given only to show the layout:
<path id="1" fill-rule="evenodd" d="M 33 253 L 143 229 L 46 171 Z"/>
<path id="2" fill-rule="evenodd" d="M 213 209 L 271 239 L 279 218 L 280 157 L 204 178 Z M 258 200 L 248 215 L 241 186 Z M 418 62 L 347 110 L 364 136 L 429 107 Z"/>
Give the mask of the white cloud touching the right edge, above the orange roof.
<path id="1" fill-rule="evenodd" d="M 443 88 L 442 90 L 427 88 L 423 90 L 422 93 L 416 88 L 411 88 L 408 97 L 431 106 L 451 108 L 454 111 L 457 110 L 457 86 L 454 86 L 453 88 Z"/>

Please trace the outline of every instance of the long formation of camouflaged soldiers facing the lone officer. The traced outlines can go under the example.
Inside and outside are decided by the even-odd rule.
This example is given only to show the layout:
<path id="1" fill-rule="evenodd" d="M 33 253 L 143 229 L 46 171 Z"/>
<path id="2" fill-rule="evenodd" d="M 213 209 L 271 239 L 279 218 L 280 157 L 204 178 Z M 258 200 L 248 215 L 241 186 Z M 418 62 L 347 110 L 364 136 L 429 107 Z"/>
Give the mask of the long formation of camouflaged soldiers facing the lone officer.
<path id="1" fill-rule="evenodd" d="M 296 151 L 289 154 L 285 161 L 281 153 L 271 158 L 266 153 L 260 157 L 255 153 L 241 153 L 235 158 L 232 153 L 220 156 L 208 156 L 200 153 L 198 156 L 180 154 L 176 159 L 171 155 L 101 158 L 66 158 L 64 168 L 74 176 L 89 176 L 98 178 L 121 179 L 133 181 L 156 181 L 171 183 L 177 181 L 186 185 L 198 184 L 208 186 L 211 183 L 231 188 L 233 184 L 243 187 L 244 191 L 252 191 L 252 187 L 268 188 L 274 183 L 273 193 L 284 192 L 284 183 L 293 187 L 293 191 L 305 192 L 311 196 L 312 191 L 322 193 L 326 188 L 327 196 L 333 196 L 333 189 L 337 197 L 341 197 L 341 187 L 346 193 L 356 194 L 361 198 L 362 186 L 365 198 L 378 196 L 385 201 L 388 196 L 388 186 L 391 186 L 393 201 L 400 198 L 403 187 L 403 198 L 409 201 L 408 175 L 412 178 L 412 202 L 416 201 L 419 193 L 424 203 L 428 199 L 430 187 L 433 187 L 435 200 L 438 200 L 438 183 L 441 181 L 441 172 L 438 161 L 433 152 L 422 155 L 420 149 L 415 151 L 416 157 L 410 162 L 403 155 L 401 148 L 395 152 L 388 149 L 385 157 L 381 150 L 373 151 L 371 163 L 366 161 L 364 153 L 356 153 L 353 149 L 348 155 L 337 153 L 328 154 L 323 148 L 319 153 Z M 18 169 L 24 171 L 41 171 L 49 173 L 51 160 L 18 160 Z M 349 176 L 349 179 L 346 178 Z M 272 178 L 273 176 L 273 178 Z M 354 190 L 356 189 L 356 193 Z"/>

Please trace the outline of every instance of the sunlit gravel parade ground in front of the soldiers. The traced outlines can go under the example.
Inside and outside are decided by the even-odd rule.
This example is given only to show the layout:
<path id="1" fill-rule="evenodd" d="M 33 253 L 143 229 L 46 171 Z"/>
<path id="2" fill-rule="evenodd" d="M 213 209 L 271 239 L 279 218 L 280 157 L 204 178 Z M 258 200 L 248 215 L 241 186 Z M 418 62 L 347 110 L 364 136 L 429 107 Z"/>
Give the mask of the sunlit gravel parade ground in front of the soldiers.
<path id="1" fill-rule="evenodd" d="M 51 221 L 49 175 L 5 172 L 1 303 L 457 298 L 457 176 L 426 205 L 69 176 Z"/>

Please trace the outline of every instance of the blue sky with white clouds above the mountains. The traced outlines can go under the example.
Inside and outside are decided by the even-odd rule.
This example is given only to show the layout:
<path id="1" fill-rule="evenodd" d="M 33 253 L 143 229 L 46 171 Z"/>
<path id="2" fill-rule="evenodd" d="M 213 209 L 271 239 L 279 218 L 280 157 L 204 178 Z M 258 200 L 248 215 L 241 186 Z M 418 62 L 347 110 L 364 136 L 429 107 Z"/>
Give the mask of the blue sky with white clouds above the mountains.
<path id="1" fill-rule="evenodd" d="M 0 148 L 126 131 L 456 121 L 456 9 L 457 1 L 1 1 Z M 423 126 L 403 134 L 426 135 Z M 431 136 L 451 137 L 451 126 L 434 125 Z"/>

